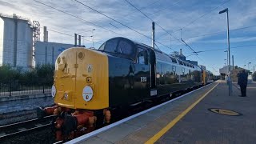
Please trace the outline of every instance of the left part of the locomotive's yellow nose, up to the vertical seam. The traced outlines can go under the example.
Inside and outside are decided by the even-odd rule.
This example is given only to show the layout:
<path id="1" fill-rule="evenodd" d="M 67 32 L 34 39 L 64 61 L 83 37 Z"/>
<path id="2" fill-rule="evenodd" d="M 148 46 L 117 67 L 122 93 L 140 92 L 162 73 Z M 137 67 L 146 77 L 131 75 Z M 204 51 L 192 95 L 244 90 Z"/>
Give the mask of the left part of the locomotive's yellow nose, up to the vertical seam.
<path id="1" fill-rule="evenodd" d="M 75 49 L 65 50 L 58 56 L 54 77 L 54 86 L 57 89 L 54 102 L 58 106 L 75 108 L 76 58 Z"/>

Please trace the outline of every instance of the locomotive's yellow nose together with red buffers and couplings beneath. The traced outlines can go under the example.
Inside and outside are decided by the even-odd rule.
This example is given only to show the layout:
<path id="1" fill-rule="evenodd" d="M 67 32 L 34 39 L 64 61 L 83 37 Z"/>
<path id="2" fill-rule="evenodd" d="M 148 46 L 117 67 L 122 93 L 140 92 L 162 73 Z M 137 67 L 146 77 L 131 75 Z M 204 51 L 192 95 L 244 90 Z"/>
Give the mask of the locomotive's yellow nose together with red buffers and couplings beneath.
<path id="1" fill-rule="evenodd" d="M 38 118 L 55 115 L 53 126 L 57 141 L 87 134 L 96 125 L 109 123 L 109 64 L 106 54 L 78 47 L 63 51 L 55 62 L 51 94 L 56 106 L 38 108 Z"/>

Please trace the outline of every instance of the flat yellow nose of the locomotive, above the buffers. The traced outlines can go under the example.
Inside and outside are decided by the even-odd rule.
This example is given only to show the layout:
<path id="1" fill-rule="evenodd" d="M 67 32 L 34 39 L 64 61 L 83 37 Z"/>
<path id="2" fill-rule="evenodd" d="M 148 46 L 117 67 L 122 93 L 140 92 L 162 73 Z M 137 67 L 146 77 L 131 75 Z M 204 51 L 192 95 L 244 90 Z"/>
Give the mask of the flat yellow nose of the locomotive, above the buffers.
<path id="1" fill-rule="evenodd" d="M 70 48 L 55 62 L 54 102 L 61 107 L 100 110 L 109 106 L 108 58 L 96 50 Z"/>

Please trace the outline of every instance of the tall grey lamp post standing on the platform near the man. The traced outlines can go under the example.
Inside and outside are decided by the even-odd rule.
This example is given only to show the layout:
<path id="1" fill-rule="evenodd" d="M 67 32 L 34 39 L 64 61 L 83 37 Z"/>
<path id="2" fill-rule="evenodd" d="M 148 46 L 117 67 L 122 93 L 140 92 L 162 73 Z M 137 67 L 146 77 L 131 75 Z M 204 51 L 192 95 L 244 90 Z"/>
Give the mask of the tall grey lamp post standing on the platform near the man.
<path id="1" fill-rule="evenodd" d="M 228 62 L 229 62 L 229 77 L 228 77 L 228 84 L 229 84 L 229 96 L 232 95 L 232 79 L 230 77 L 230 27 L 229 27 L 229 9 L 226 8 L 225 10 L 221 10 L 218 14 L 222 14 L 226 12 L 226 22 L 227 22 L 227 45 L 228 45 Z"/>

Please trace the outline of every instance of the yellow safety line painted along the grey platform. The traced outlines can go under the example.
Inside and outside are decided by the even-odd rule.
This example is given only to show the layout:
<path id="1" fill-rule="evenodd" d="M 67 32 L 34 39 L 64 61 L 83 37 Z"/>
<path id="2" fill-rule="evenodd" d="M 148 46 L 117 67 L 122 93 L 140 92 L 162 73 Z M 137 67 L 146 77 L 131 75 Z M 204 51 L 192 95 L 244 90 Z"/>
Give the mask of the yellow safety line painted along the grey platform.
<path id="1" fill-rule="evenodd" d="M 216 85 L 218 86 L 218 84 Z M 160 130 L 158 132 L 158 134 L 154 134 L 154 136 L 152 138 L 150 138 L 147 142 L 145 142 L 146 144 L 150 144 L 150 143 L 154 143 L 156 142 L 159 138 L 162 137 L 163 134 L 166 134 L 166 132 L 168 130 L 170 130 L 181 118 L 183 118 L 191 109 L 193 109 L 194 106 L 196 106 L 201 100 L 202 98 L 205 98 L 207 94 L 210 93 L 210 91 L 214 90 L 214 88 L 216 87 L 214 86 L 212 89 L 210 89 L 206 94 L 204 94 L 201 98 L 199 98 L 197 100 L 197 102 L 194 102 L 191 106 L 189 106 L 186 110 L 184 110 L 182 112 L 182 114 L 179 114 L 178 117 L 174 118 L 174 120 L 172 122 L 170 122 L 166 127 L 162 128 L 162 130 Z"/>

